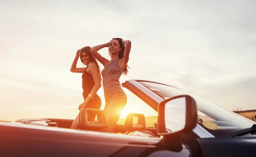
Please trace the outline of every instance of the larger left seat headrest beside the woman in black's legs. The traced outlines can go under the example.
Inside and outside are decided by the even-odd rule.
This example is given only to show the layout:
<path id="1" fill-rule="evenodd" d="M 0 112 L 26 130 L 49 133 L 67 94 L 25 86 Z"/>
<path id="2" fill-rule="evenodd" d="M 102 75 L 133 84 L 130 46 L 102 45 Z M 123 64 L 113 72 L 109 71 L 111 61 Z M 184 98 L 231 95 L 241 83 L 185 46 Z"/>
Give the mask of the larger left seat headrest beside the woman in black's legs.
<path id="1" fill-rule="evenodd" d="M 97 121 L 90 122 L 87 115 L 97 115 Z M 106 114 L 103 110 L 94 108 L 82 108 L 77 116 L 77 128 L 84 130 L 102 129 L 108 127 Z"/>

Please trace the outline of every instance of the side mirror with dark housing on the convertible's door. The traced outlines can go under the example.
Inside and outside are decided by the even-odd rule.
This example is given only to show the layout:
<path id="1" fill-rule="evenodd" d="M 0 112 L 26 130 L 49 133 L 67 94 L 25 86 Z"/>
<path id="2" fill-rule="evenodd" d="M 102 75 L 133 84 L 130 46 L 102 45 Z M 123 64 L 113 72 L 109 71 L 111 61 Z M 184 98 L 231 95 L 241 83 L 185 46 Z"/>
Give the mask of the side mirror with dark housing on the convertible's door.
<path id="1" fill-rule="evenodd" d="M 173 105 L 172 103 L 175 102 L 175 100 L 176 100 L 176 102 L 177 102 L 177 100 L 185 100 L 184 101 L 185 104 L 174 103 L 174 105 Z M 184 123 L 184 125 L 177 131 L 172 132 L 171 131 L 172 128 L 166 128 L 166 116 L 168 116 L 168 115 L 166 115 L 166 106 L 173 106 L 173 108 L 179 107 L 179 106 L 184 107 L 183 108 L 183 110 L 185 110 L 184 115 L 181 118 L 181 119 L 184 119 L 184 121 L 181 120 L 181 123 Z M 177 109 L 177 108 L 175 108 L 175 109 Z M 180 111 L 180 110 L 177 109 L 177 111 Z M 170 112 L 172 112 L 172 111 L 170 111 Z M 175 112 L 176 111 L 173 111 L 173 113 L 175 113 Z M 171 116 L 169 116 L 169 117 L 171 117 Z M 171 118 L 173 118 L 174 120 L 175 120 L 175 118 L 177 119 L 177 117 L 171 117 Z M 177 120 L 175 120 L 175 122 L 177 122 L 179 120 L 180 119 L 177 119 Z M 158 105 L 157 134 L 163 135 L 163 137 L 174 137 L 175 135 L 180 134 L 180 133 L 190 132 L 190 131 L 192 131 L 193 128 L 195 128 L 196 123 L 197 123 L 197 106 L 196 106 L 195 100 L 192 97 L 190 97 L 189 95 L 175 96 L 175 97 L 169 98 L 167 100 L 163 100 Z M 167 122 L 167 124 L 168 124 L 168 122 Z M 175 125 L 170 124 L 169 126 L 175 126 Z M 177 138 L 173 138 L 173 140 L 175 140 L 175 139 L 178 140 Z"/>

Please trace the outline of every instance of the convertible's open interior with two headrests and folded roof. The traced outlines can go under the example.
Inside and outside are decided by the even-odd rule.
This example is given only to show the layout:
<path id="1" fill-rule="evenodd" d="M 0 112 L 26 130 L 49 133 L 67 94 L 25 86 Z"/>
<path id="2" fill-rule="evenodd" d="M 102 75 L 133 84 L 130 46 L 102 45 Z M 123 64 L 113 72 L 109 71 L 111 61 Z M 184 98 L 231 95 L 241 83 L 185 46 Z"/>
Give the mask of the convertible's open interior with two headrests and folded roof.
<path id="1" fill-rule="evenodd" d="M 87 120 L 88 114 L 96 114 L 96 120 L 90 122 Z M 137 122 L 134 123 L 134 118 Z M 70 128 L 73 123 L 71 119 L 57 118 L 38 118 L 38 119 L 21 119 L 15 123 L 23 123 L 29 125 L 39 125 L 57 128 Z M 93 108 L 82 108 L 77 117 L 77 127 L 79 130 L 101 131 L 108 126 L 107 118 L 104 111 Z M 113 129 L 115 134 L 126 134 L 145 137 L 160 137 L 157 134 L 156 128 L 146 127 L 145 116 L 140 113 L 129 113 L 125 118 L 125 124 L 116 124 Z"/>

